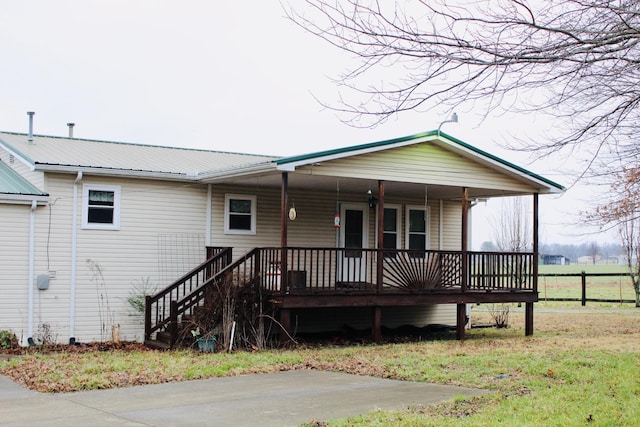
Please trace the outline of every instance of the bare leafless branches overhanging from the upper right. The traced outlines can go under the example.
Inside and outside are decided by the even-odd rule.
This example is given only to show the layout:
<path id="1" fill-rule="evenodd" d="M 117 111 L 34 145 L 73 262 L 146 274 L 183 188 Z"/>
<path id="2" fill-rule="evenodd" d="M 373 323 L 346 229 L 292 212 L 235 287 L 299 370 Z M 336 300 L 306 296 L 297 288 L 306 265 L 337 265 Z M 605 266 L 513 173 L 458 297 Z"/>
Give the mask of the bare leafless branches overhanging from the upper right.
<path id="1" fill-rule="evenodd" d="M 305 0 L 288 17 L 355 56 L 325 105 L 374 126 L 407 110 L 462 104 L 559 120 L 549 153 L 637 153 L 640 8 L 636 0 Z"/>

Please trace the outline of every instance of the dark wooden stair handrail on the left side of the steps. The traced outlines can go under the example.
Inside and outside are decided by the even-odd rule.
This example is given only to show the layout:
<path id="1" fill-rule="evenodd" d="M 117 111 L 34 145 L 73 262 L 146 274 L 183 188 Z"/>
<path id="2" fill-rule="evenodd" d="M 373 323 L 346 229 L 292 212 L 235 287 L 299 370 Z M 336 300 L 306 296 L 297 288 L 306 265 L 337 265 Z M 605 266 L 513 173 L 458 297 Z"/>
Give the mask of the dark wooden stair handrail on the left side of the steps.
<path id="1" fill-rule="evenodd" d="M 232 248 L 231 247 L 220 247 L 214 248 L 215 253 L 204 261 L 202 264 L 195 267 L 193 270 L 189 271 L 178 280 L 173 282 L 171 285 L 162 289 L 161 291 L 155 293 L 154 295 L 145 296 L 145 310 L 144 310 L 144 336 L 145 340 L 151 338 L 151 334 L 155 331 L 161 329 L 162 327 L 170 324 L 171 321 L 171 302 L 177 301 L 181 299 L 181 293 L 179 292 L 180 287 L 185 295 L 193 292 L 193 285 L 189 286 L 187 290 L 186 283 L 192 281 L 193 278 L 196 278 L 195 289 L 203 286 L 213 275 L 217 273 L 217 270 L 224 269 L 231 263 L 232 260 Z M 216 266 L 220 266 L 220 268 L 216 268 Z M 198 283 L 199 276 L 203 275 L 202 283 Z M 172 294 L 175 293 L 175 297 L 172 297 Z M 167 301 L 167 296 L 169 299 Z M 162 302 L 162 306 L 160 304 Z M 154 310 L 155 308 L 155 310 Z M 155 311 L 155 324 L 152 321 L 152 314 Z"/>

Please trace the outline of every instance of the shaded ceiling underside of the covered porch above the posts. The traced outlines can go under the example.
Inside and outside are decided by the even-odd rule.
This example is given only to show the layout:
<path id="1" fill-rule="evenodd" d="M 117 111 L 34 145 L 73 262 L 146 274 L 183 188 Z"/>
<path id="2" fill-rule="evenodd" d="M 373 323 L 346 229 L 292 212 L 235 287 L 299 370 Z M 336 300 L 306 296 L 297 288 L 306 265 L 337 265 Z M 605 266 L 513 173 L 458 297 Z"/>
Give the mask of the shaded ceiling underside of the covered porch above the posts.
<path id="1" fill-rule="evenodd" d="M 375 179 L 344 178 L 334 176 L 309 175 L 308 173 L 289 172 L 288 185 L 290 190 L 304 190 L 314 192 L 335 192 L 339 184 L 340 191 L 345 193 L 362 193 L 371 190 L 374 195 L 378 192 L 378 181 Z M 248 185 L 269 188 L 280 188 L 282 174 L 274 172 L 259 176 L 235 177 L 232 179 L 218 180 L 218 183 L 231 185 Z M 461 200 L 462 188 L 458 186 L 385 181 L 385 195 L 387 197 L 423 198 L 425 187 L 430 199 Z M 492 198 L 512 195 L 526 195 L 530 193 L 507 192 L 502 189 L 469 187 L 471 199 Z"/>

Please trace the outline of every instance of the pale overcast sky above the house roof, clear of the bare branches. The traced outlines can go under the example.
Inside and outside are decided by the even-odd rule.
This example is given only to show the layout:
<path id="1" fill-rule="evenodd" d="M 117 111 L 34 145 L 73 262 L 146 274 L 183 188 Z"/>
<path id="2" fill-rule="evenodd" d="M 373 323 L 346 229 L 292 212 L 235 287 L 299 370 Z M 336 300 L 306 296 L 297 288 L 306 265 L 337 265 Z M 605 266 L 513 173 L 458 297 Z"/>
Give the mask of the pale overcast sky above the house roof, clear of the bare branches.
<path id="1" fill-rule="evenodd" d="M 302 4 L 291 0 L 294 5 Z M 374 129 L 343 124 L 325 102 L 351 58 L 284 17 L 276 0 L 245 2 L 0 0 L 0 129 L 79 138 L 293 155 L 437 129 L 451 111 L 409 112 Z M 443 131 L 569 186 L 561 159 L 530 163 L 500 147 L 537 132 L 532 117 L 472 108 Z M 584 189 L 542 197 L 543 241 L 598 239 L 567 226 Z M 488 207 L 491 207 L 491 203 Z M 478 217 L 485 217 L 484 207 Z M 476 226 L 475 245 L 490 239 Z M 577 233 L 577 234 L 576 234 Z M 611 240 L 610 238 L 608 240 Z"/>

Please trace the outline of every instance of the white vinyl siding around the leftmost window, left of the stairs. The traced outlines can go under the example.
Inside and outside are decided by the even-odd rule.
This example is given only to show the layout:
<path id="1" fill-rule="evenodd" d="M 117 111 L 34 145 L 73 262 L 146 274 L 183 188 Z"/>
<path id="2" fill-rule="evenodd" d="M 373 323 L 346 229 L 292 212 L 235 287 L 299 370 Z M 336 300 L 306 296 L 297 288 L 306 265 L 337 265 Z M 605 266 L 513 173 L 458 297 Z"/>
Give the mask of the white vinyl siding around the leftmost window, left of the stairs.
<path id="1" fill-rule="evenodd" d="M 38 323 L 50 325 L 57 340 L 65 342 L 69 339 L 75 176 L 48 174 L 47 178 L 55 203 L 37 210 L 35 272 L 50 270 L 55 277 L 48 290 L 37 291 L 35 311 L 42 313 Z M 121 339 L 140 340 L 144 325 L 141 318 L 132 316 L 126 298 L 136 284 L 148 280 L 161 289 L 204 260 L 206 186 L 87 175 L 83 181 L 120 186 L 122 221 L 117 233 L 78 224 L 75 338 L 79 342 L 111 339 L 111 324 L 117 324 Z"/>

